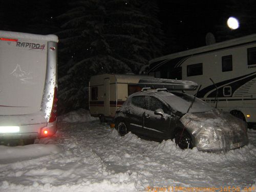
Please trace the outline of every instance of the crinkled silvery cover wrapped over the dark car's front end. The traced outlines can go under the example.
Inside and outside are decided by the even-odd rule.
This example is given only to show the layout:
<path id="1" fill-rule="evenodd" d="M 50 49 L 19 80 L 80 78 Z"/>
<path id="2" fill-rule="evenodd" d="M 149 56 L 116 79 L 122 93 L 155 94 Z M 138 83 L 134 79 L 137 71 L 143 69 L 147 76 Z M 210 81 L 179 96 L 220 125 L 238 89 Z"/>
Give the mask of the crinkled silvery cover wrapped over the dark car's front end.
<path id="1" fill-rule="evenodd" d="M 248 143 L 246 123 L 227 112 L 187 113 L 180 121 L 199 151 L 226 152 Z"/>

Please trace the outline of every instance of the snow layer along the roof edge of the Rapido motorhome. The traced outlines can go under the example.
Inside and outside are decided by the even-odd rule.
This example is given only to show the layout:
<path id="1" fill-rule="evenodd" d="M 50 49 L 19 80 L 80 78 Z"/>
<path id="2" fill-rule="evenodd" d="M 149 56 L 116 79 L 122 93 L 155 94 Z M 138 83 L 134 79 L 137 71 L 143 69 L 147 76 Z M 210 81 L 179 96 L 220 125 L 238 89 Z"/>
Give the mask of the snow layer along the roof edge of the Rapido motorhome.
<path id="1" fill-rule="evenodd" d="M 36 35 L 31 33 L 20 33 L 20 32 L 1 31 L 1 30 L 0 30 L 0 37 L 28 38 L 28 39 L 46 40 L 46 41 L 54 41 L 54 42 L 59 41 L 56 35 Z"/>

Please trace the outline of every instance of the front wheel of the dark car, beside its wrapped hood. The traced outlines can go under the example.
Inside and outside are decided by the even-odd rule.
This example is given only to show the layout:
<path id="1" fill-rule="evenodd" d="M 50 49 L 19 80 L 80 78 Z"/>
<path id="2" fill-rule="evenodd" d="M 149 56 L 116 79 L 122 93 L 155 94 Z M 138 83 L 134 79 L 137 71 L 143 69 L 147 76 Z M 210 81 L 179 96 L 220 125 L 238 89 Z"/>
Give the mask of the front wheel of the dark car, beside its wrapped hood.
<path id="1" fill-rule="evenodd" d="M 178 130 L 175 134 L 175 143 L 178 145 L 182 150 L 185 148 L 193 148 L 193 139 L 191 138 L 190 134 L 186 130 Z"/>

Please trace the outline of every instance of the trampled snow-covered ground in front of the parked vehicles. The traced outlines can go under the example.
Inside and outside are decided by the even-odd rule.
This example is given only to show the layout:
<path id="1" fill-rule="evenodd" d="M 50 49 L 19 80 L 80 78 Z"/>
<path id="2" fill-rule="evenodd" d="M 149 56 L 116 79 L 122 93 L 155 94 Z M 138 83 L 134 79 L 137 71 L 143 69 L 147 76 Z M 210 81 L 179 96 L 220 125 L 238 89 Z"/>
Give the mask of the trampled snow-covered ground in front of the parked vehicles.
<path id="1" fill-rule="evenodd" d="M 120 137 L 79 110 L 59 118 L 52 138 L 0 145 L 0 191 L 256 191 L 256 131 L 248 136 L 226 154 L 182 151 L 170 140 Z"/>

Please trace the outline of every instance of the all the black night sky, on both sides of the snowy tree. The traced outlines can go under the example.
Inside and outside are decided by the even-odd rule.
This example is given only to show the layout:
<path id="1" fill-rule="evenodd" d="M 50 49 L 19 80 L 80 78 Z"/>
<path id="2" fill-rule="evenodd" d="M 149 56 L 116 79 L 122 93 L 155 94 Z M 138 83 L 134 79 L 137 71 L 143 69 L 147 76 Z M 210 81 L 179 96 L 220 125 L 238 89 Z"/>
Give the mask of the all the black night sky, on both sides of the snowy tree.
<path id="1" fill-rule="evenodd" d="M 36 33 L 29 27 L 31 18 L 38 21 L 41 34 L 51 33 L 45 25 L 69 9 L 67 0 L 33 1 L 0 0 L 0 29 Z M 253 0 L 158 0 L 159 16 L 165 35 L 165 53 L 205 46 L 205 36 L 211 32 L 217 42 L 256 33 L 256 10 Z M 228 16 L 237 16 L 241 27 L 230 30 Z M 40 19 L 44 18 L 44 22 Z M 34 27 L 34 26 L 33 26 Z M 37 32 L 38 33 L 38 32 Z"/>

